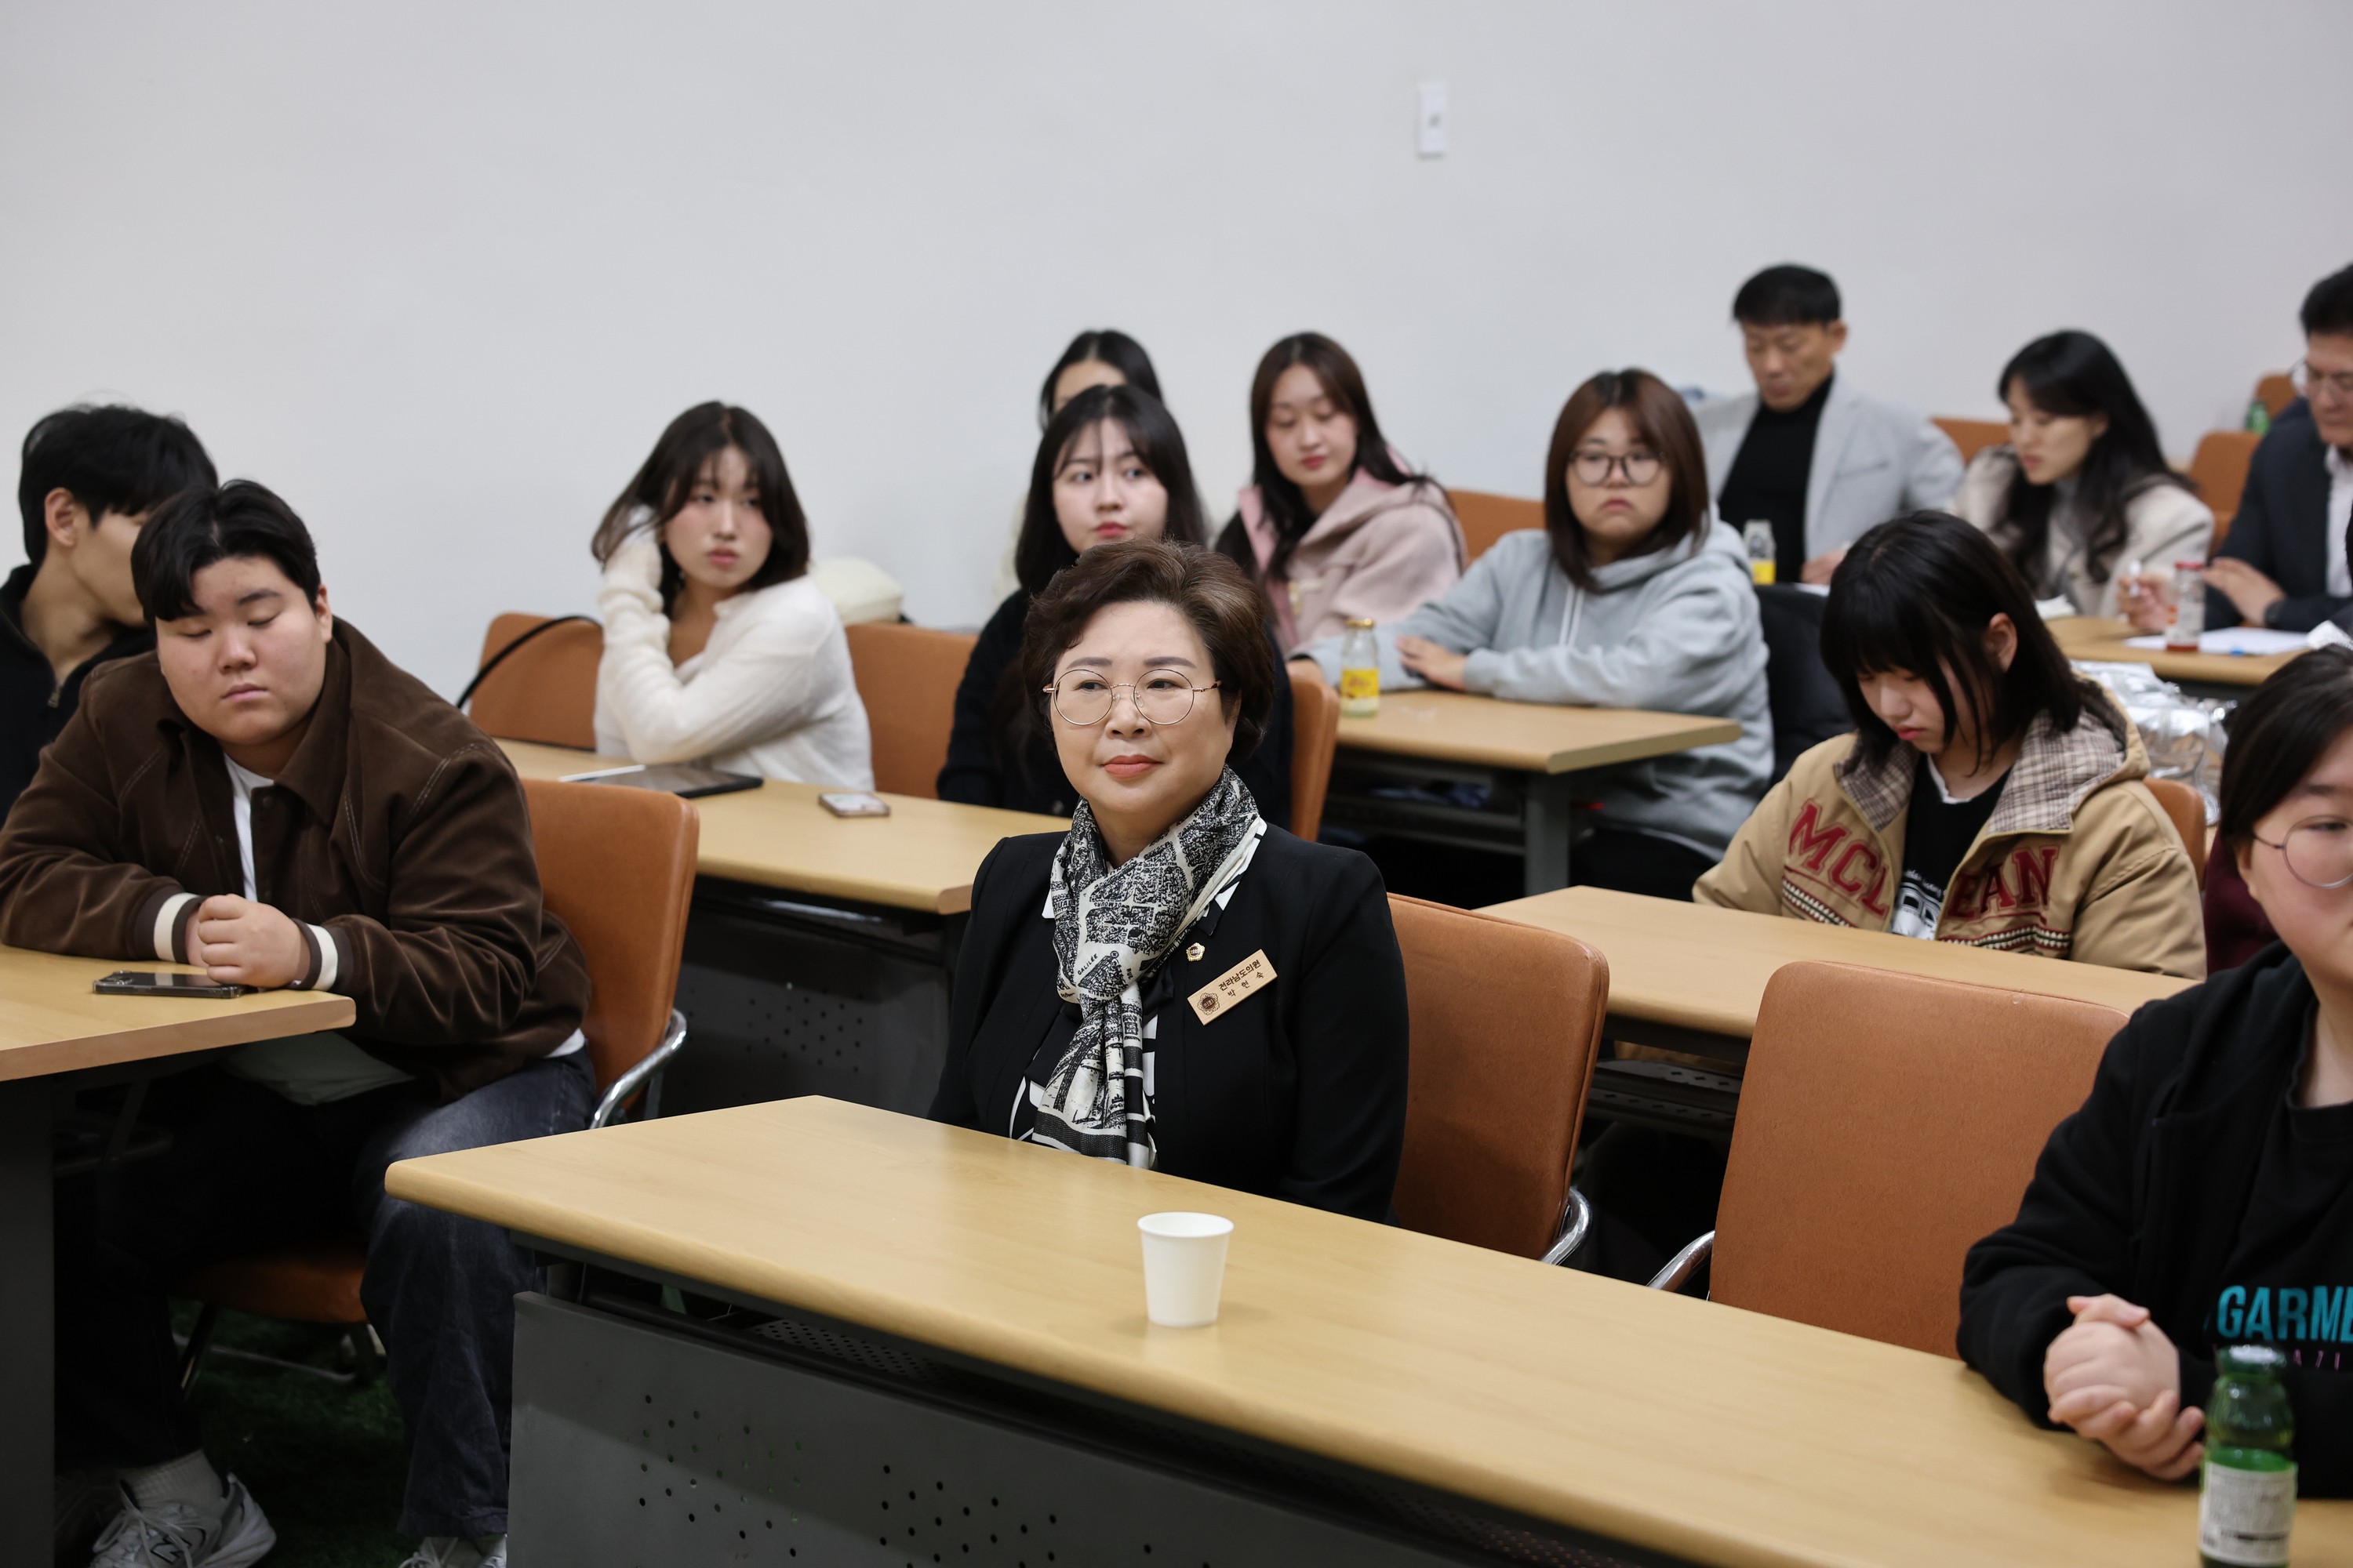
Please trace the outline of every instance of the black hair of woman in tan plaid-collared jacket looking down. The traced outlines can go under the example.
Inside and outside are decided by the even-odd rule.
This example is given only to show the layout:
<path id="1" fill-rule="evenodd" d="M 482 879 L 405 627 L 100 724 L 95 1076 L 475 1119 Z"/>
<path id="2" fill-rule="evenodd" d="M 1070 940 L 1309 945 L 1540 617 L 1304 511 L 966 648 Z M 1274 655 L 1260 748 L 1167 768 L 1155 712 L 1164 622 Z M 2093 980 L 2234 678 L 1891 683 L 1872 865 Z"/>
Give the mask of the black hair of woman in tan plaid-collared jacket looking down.
<path id="1" fill-rule="evenodd" d="M 2007 670 L 1986 651 L 1995 616 L 2019 628 Z M 2024 736 L 2035 715 L 2068 731 L 2085 712 L 2082 684 L 2035 614 L 2026 578 L 1951 512 L 1882 522 L 1847 548 L 1821 611 L 1821 663 L 1847 696 L 1854 750 L 1871 766 L 1887 762 L 1897 731 L 1864 701 L 1866 675 L 1927 682 L 1948 741 L 1958 719 L 1969 719 L 1979 766 Z"/>

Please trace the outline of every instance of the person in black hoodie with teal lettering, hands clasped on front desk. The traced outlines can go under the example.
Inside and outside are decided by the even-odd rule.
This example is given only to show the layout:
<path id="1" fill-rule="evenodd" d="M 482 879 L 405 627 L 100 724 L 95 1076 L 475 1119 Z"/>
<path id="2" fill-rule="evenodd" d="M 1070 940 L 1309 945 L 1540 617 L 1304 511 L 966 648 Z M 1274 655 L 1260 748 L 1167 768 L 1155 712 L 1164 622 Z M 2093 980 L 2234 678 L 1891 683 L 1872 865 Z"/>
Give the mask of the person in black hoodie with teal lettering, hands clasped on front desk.
<path id="1" fill-rule="evenodd" d="M 1969 1248 L 1960 1354 L 2035 1422 L 2177 1479 L 2214 1352 L 2271 1345 L 2304 1495 L 2353 1495 L 2353 649 L 2240 708 L 2221 849 L 2280 940 L 2108 1044 L 2019 1218 Z"/>

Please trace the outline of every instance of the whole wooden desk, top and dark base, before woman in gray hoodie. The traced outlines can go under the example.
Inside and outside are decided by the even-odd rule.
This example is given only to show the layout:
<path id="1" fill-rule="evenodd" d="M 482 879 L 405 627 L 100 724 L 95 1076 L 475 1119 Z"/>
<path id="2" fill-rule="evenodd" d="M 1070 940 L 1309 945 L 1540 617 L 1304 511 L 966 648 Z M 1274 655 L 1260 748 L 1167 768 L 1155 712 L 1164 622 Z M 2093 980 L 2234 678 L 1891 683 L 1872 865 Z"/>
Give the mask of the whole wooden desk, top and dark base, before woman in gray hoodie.
<path id="1" fill-rule="evenodd" d="M 1341 719 L 1325 820 L 1362 832 L 1520 853 L 1527 891 L 1569 879 L 1577 773 L 1739 741 L 1734 719 L 1638 708 L 1506 703 L 1468 691 L 1388 691 L 1372 719 Z M 1449 778 L 1485 785 L 1489 809 L 1377 795 Z"/>

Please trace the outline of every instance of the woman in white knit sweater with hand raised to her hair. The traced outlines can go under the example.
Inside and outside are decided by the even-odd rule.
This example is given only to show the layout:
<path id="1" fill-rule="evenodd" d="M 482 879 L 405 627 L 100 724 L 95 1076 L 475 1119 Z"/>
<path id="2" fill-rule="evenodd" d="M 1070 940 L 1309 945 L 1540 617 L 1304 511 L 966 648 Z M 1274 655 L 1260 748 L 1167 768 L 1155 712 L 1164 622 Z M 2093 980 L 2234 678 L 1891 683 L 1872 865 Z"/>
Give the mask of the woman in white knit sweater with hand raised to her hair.
<path id="1" fill-rule="evenodd" d="M 600 752 L 873 788 L 842 618 L 807 576 L 809 524 L 751 411 L 706 402 L 671 421 L 591 548 Z"/>

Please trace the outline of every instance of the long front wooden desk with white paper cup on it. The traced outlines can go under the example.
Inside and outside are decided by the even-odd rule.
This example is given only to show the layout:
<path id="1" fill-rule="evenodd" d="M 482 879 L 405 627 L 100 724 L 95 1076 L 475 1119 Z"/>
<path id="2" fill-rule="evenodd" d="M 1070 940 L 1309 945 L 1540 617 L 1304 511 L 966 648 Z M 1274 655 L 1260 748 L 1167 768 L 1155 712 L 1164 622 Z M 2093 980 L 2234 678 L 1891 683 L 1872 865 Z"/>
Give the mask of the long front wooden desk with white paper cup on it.
<path id="1" fill-rule="evenodd" d="M 793 1100 L 466 1150 L 393 1166 L 386 1187 L 553 1251 L 934 1347 L 951 1366 L 1045 1380 L 1146 1418 L 1240 1434 L 1306 1467 L 1435 1488 L 1440 1502 L 1468 1500 L 1473 1514 L 1506 1509 L 1699 1563 L 2195 1561 L 2191 1488 L 2158 1486 L 2092 1443 L 2038 1432 L 1958 1361 L 873 1110 Z M 1214 1328 L 1165 1331 L 1144 1319 L 1134 1222 L 1160 1208 L 1207 1208 L 1235 1222 Z M 581 1363 L 574 1378 L 612 1385 L 607 1420 L 626 1422 L 607 1446 L 588 1443 L 579 1420 L 600 1394 L 551 1387 L 534 1347 L 534 1333 L 581 1309 L 532 1309 L 534 1298 L 525 1307 L 518 1554 L 565 1559 L 565 1544 L 586 1540 L 612 1561 L 654 1561 L 664 1507 L 701 1495 L 739 1509 L 741 1488 L 751 1505 L 741 1523 L 755 1542 L 774 1542 L 753 1547 L 758 1561 L 781 1559 L 788 1530 L 805 1561 L 904 1561 L 934 1549 L 967 1561 L 953 1542 L 972 1526 L 955 1509 L 988 1514 L 979 1507 L 988 1486 L 972 1474 L 986 1455 L 967 1467 L 901 1455 L 906 1474 L 892 1481 L 873 1474 L 854 1493 L 840 1488 L 847 1495 L 814 1483 L 793 1490 L 802 1465 L 831 1458 L 819 1448 L 852 1441 L 845 1429 L 807 1439 L 800 1455 L 786 1448 L 779 1467 L 758 1448 L 779 1443 L 767 1422 L 791 1420 L 788 1410 L 746 1413 L 748 1441 L 725 1408 L 696 1408 L 704 1425 L 689 1432 L 689 1410 L 673 1415 L 671 1389 L 628 1356 Z M 624 1324 L 616 1333 L 664 1331 Z M 753 1382 L 755 1359 L 739 1366 Z M 894 1394 L 925 1396 L 920 1382 Z M 541 1396 L 562 1408 L 539 1406 Z M 972 1380 L 941 1396 L 979 1399 Z M 689 1436 L 706 1446 L 689 1453 Z M 1002 1436 L 1016 1439 L 1031 1441 Z M 551 1465 L 551 1446 L 576 1467 L 569 1476 Z M 739 1462 L 741 1472 L 729 1469 Z M 1292 1474 L 1266 1465 L 1252 1479 L 1280 1490 Z M 776 1490 L 762 1495 L 769 1476 Z M 1033 1495 L 1005 1495 L 1002 1516 L 1026 1509 L 1021 1519 L 1038 1530 L 1024 1544 L 1052 1544 L 1040 1540 L 1052 1474 L 1033 1472 L 1026 1483 Z M 675 1497 L 666 1502 L 656 1486 Z M 878 1540 L 868 1512 L 894 1486 L 918 1488 L 911 1502 L 920 1507 L 873 1514 L 880 1540 L 906 1549 L 882 1556 L 864 1547 Z M 1360 1497 L 1351 1523 L 1377 1516 L 1377 1497 Z M 1085 1530 L 1104 1507 L 1073 1490 L 1059 1514 Z M 774 1535 L 762 1516 L 774 1519 Z M 706 1514 L 701 1528 L 711 1523 L 739 1521 Z M 1092 1552 L 1085 1542 L 1096 1537 L 1082 1533 L 1061 1561 L 1209 1556 L 1200 1540 L 1188 1549 L 1186 1521 L 1139 1514 L 1113 1528 Z M 685 1537 L 685 1521 L 678 1530 Z M 812 1552 L 812 1540 L 831 1540 L 826 1530 L 849 1552 Z M 1153 1530 L 1162 1549 L 1144 1559 L 1129 1540 L 1153 1540 Z M 1377 1554 L 1379 1537 L 1367 1542 L 1362 1554 L 1299 1561 L 1405 1561 Z M 969 1561 L 998 1559 L 974 1547 Z M 1271 1559 L 1238 1549 L 1217 1561 Z M 2353 1561 L 2353 1505 L 2306 1502 L 2297 1561 Z"/>

